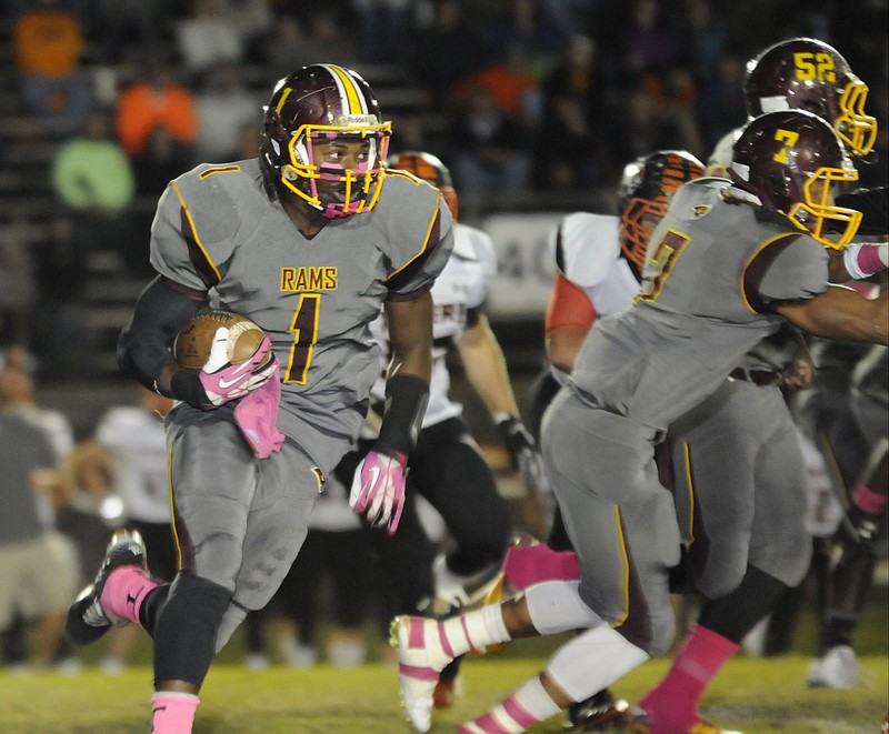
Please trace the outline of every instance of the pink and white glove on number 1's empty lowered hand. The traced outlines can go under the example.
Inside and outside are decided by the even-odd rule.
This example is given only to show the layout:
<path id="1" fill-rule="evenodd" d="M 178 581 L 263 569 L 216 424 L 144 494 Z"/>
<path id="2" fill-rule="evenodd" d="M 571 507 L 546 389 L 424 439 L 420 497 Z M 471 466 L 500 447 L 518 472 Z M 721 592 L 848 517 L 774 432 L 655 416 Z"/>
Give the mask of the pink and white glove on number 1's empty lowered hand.
<path id="1" fill-rule="evenodd" d="M 388 532 L 394 535 L 404 507 L 404 481 L 408 476 L 408 458 L 369 451 L 354 470 L 349 504 L 364 514 L 373 527 L 388 523 Z"/>

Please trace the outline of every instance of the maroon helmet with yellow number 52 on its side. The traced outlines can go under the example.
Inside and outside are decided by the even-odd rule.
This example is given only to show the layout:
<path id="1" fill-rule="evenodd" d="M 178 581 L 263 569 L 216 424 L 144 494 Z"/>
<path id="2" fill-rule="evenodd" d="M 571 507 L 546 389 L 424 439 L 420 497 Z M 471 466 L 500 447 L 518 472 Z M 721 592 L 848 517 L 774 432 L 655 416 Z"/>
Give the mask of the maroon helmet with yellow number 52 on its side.
<path id="1" fill-rule="evenodd" d="M 868 88 L 823 41 L 795 38 L 769 47 L 748 62 L 743 91 L 751 118 L 807 110 L 833 125 L 851 155 L 873 148 L 877 119 L 865 112 Z"/>

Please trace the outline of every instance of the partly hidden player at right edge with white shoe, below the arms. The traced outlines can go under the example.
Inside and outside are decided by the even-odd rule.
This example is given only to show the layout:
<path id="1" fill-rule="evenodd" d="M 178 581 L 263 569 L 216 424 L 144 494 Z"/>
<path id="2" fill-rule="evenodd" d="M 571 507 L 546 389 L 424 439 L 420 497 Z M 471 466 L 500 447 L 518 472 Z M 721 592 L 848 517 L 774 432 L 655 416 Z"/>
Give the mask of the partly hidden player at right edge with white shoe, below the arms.
<path id="1" fill-rule="evenodd" d="M 819 576 L 819 656 L 806 674 L 806 683 L 815 688 L 850 688 L 861 682 L 855 635 L 873 567 L 886 556 L 889 540 L 887 350 L 871 346 L 862 352 L 861 346 L 817 343 L 818 373 L 798 405 L 800 425 L 833 467 L 831 479 L 848 509 L 830 542 L 816 546 L 827 577 Z"/>

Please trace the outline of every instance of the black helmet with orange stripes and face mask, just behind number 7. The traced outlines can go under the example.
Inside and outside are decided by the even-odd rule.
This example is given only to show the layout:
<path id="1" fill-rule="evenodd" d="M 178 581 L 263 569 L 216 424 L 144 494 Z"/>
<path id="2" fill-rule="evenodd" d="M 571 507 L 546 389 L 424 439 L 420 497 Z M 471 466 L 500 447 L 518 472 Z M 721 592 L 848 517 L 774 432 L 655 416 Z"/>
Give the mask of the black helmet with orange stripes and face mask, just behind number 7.
<path id="1" fill-rule="evenodd" d="M 670 198 L 686 181 L 702 175 L 703 163 L 685 150 L 659 150 L 625 167 L 618 185 L 618 237 L 637 276 L 646 263 L 648 240 L 667 213 Z"/>

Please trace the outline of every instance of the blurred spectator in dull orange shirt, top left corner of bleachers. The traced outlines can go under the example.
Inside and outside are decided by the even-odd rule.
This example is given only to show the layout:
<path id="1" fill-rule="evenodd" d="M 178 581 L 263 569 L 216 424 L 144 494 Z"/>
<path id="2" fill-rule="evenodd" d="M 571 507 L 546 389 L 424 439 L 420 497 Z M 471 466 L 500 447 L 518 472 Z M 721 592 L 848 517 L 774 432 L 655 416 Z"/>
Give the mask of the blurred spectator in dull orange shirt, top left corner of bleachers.
<path id="1" fill-rule="evenodd" d="M 93 102 L 81 73 L 83 29 L 58 0 L 36 0 L 16 19 L 12 31 L 16 70 L 29 110 L 56 134 L 79 129 Z"/>

